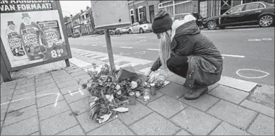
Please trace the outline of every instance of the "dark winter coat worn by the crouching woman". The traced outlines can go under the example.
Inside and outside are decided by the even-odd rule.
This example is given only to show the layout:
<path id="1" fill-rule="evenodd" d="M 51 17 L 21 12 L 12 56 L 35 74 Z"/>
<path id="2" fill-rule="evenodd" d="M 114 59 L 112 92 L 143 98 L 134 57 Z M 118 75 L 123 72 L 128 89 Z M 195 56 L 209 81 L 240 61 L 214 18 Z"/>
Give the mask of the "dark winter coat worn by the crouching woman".
<path id="1" fill-rule="evenodd" d="M 174 29 L 174 28 L 173 28 Z M 188 71 L 185 86 L 194 89 L 199 86 L 210 86 L 221 79 L 223 57 L 209 38 L 201 33 L 196 21 L 179 25 L 172 35 L 173 56 L 187 56 Z M 151 67 L 154 72 L 161 66 L 160 58 Z"/>

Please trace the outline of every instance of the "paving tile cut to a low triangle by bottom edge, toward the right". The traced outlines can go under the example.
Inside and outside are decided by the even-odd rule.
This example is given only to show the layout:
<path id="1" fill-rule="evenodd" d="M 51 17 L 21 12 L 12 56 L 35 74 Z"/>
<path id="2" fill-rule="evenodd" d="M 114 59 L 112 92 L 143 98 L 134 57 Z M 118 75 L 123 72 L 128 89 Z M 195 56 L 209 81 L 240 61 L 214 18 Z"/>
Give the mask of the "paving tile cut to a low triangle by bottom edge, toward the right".
<path id="1" fill-rule="evenodd" d="M 245 132 L 244 130 L 235 128 L 233 125 L 223 122 L 220 125 L 218 125 L 218 128 L 213 130 L 213 132 L 211 132 L 210 135 L 250 135 L 250 134 Z"/>

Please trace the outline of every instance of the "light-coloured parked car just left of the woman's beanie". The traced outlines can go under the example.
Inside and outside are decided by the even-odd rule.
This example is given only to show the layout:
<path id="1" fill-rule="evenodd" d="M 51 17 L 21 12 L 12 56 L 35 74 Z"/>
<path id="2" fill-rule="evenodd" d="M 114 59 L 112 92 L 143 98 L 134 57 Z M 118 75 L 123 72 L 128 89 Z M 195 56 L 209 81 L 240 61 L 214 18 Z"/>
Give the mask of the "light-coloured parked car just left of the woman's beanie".
<path id="1" fill-rule="evenodd" d="M 146 33 L 152 32 L 152 24 L 148 21 L 138 21 L 133 23 L 131 27 L 129 27 L 129 34 L 131 33 Z"/>

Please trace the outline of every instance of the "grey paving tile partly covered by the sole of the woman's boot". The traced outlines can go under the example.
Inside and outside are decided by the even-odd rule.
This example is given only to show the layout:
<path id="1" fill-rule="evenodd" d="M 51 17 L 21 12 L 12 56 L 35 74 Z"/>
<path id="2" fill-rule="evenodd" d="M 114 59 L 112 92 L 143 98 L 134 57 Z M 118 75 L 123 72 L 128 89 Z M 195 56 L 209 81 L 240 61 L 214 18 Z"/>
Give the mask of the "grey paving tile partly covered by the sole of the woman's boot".
<path id="1" fill-rule="evenodd" d="M 211 106 L 220 100 L 219 98 L 209 96 L 208 94 L 204 94 L 196 100 L 186 100 L 185 98 L 181 97 L 180 101 L 183 103 L 187 103 L 189 106 L 193 106 L 198 108 L 201 111 L 207 111 Z"/>

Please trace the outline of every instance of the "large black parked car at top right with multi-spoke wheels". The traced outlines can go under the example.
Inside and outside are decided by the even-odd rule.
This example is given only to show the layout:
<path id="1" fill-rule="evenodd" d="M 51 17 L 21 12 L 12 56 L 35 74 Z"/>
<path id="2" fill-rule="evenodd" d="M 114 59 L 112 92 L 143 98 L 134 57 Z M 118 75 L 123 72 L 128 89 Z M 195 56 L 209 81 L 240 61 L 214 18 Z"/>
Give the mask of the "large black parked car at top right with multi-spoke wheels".
<path id="1" fill-rule="evenodd" d="M 257 1 L 234 6 L 221 16 L 204 19 L 203 25 L 209 30 L 214 30 L 217 27 L 223 29 L 226 26 L 259 25 L 269 27 L 274 25 L 274 4 Z"/>

